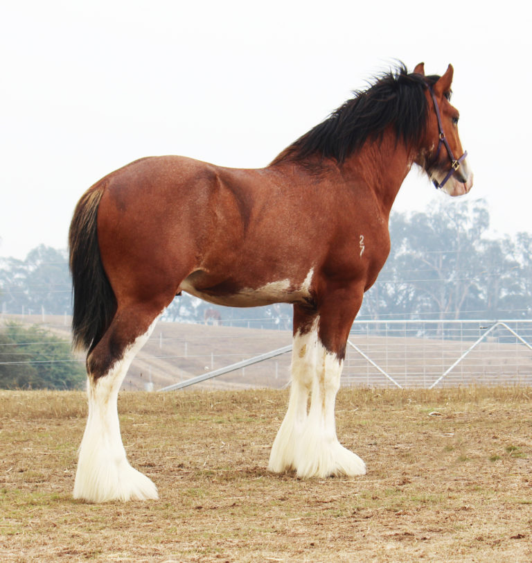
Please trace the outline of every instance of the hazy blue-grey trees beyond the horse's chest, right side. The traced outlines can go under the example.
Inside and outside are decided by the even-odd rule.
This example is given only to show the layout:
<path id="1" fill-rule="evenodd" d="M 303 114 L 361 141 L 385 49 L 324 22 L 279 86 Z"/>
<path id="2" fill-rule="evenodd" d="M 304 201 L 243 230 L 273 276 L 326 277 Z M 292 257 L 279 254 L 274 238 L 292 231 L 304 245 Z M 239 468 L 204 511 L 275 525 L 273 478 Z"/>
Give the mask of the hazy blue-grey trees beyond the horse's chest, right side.
<path id="1" fill-rule="evenodd" d="M 532 237 L 491 240 L 488 227 L 484 201 L 393 214 L 390 256 L 361 315 L 496 318 L 518 302 L 522 309 L 532 290 Z"/>

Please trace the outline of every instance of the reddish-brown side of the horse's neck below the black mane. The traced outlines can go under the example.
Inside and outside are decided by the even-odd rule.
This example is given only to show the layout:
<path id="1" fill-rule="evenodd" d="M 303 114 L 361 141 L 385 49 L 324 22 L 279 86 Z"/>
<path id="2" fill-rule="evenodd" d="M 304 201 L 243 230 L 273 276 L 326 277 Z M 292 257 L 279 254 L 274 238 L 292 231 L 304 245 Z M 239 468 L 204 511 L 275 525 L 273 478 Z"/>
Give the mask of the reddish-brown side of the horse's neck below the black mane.
<path id="1" fill-rule="evenodd" d="M 414 162 L 414 151 L 398 142 L 394 135 L 367 142 L 342 164 L 342 175 L 347 183 L 360 187 L 366 184 L 387 217 L 399 188 Z"/>

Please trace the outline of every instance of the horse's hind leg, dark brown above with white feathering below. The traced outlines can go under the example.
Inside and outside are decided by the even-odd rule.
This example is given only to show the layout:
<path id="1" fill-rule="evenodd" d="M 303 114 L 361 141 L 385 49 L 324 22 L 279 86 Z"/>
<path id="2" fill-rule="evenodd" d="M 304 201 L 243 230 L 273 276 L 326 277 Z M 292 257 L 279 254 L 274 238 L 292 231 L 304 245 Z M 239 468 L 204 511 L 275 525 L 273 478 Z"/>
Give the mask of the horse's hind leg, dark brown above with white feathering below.
<path id="1" fill-rule="evenodd" d="M 89 417 L 80 446 L 75 499 L 158 498 L 152 481 L 127 462 L 117 399 L 127 369 L 150 337 L 161 310 L 146 304 L 119 306 L 109 329 L 87 356 Z"/>

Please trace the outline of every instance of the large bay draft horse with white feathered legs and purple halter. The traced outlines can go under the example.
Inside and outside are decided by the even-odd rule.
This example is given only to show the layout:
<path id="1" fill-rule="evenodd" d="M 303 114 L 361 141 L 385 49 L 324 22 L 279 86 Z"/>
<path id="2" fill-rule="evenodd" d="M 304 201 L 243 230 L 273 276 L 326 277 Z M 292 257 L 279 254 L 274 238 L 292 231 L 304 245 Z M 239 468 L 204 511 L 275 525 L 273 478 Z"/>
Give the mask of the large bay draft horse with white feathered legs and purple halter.
<path id="1" fill-rule="evenodd" d="M 292 386 L 268 467 L 301 478 L 366 472 L 335 429 L 346 340 L 387 259 L 391 206 L 410 168 L 450 196 L 472 187 L 452 75 L 451 65 L 425 76 L 423 63 L 413 73 L 400 64 L 265 168 L 148 157 L 85 192 L 69 232 L 73 345 L 88 350 L 76 499 L 157 499 L 127 461 L 117 397 L 181 291 L 227 306 L 293 304 Z"/>

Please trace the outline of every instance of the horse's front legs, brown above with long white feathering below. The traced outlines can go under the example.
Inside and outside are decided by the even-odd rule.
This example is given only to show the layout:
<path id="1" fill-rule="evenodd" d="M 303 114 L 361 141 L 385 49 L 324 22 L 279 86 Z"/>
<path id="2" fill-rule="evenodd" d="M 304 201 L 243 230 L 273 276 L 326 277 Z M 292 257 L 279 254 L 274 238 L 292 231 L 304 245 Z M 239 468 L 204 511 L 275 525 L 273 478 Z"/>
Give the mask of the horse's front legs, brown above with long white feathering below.
<path id="1" fill-rule="evenodd" d="M 335 400 L 342 374 L 346 341 L 362 302 L 351 291 L 330 293 L 303 322 L 294 306 L 292 390 L 269 469 L 295 469 L 300 477 L 355 476 L 364 462 L 338 441 Z M 307 412 L 308 396 L 310 408 Z"/>

